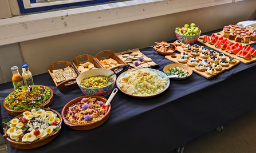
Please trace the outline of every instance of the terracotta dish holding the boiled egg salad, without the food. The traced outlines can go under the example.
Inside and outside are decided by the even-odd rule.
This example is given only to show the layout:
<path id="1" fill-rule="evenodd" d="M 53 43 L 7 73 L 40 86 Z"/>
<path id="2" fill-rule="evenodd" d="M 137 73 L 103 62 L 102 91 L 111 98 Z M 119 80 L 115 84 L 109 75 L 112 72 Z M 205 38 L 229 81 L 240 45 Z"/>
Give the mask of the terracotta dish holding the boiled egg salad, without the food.
<path id="1" fill-rule="evenodd" d="M 53 111 L 54 113 L 56 113 L 58 115 L 58 118 L 60 118 L 60 123 L 58 124 L 59 125 L 58 127 L 61 128 L 61 124 L 62 124 L 61 114 L 56 110 L 50 109 L 50 111 Z M 19 116 L 21 116 L 21 115 L 22 114 L 15 116 L 15 118 L 19 118 Z M 6 133 L 7 130 L 8 130 L 8 126 L 6 126 L 6 128 L 5 128 L 5 135 L 7 135 L 7 133 Z M 15 140 L 12 140 L 11 138 L 9 138 L 9 136 L 6 136 L 6 140 L 14 148 L 28 150 L 28 149 L 33 149 L 33 148 L 37 148 L 40 146 L 44 146 L 46 143 L 49 143 L 54 138 L 56 138 L 56 136 L 60 133 L 60 131 L 61 131 L 61 129 L 58 131 L 53 131 L 52 134 L 46 136 L 45 138 L 36 140 L 34 142 L 16 142 Z"/>

